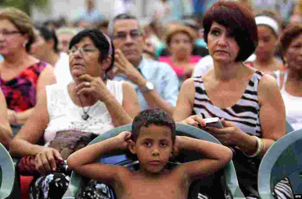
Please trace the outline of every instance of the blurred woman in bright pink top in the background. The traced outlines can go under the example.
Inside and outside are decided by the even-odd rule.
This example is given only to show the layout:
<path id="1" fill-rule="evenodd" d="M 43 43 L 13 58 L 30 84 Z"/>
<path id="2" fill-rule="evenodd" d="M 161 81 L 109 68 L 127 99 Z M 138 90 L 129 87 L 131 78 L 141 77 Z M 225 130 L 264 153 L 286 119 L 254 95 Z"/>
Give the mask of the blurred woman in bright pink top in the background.
<path id="1" fill-rule="evenodd" d="M 171 56 L 159 57 L 159 61 L 169 64 L 182 81 L 191 77 L 194 65 L 201 58 L 192 55 L 197 36 L 193 28 L 183 25 L 172 25 L 167 33 L 166 45 Z"/>

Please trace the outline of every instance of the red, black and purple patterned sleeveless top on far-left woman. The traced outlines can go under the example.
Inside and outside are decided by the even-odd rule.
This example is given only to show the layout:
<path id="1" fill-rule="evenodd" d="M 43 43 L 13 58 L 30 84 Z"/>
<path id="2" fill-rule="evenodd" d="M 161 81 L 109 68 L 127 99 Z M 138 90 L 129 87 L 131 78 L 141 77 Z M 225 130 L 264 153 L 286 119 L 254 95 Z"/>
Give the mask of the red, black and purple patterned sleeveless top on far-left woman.
<path id="1" fill-rule="evenodd" d="M 46 66 L 46 62 L 35 63 L 8 81 L 0 75 L 0 86 L 9 109 L 22 112 L 36 105 L 38 77 Z"/>

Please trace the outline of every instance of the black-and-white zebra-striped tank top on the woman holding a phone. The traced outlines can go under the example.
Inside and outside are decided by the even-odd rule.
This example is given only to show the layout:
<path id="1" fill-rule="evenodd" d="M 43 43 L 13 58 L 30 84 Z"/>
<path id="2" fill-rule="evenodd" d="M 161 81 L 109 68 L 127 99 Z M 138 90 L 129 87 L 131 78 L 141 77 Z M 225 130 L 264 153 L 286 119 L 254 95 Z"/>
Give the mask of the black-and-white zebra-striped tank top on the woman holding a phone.
<path id="1" fill-rule="evenodd" d="M 203 118 L 219 117 L 231 121 L 243 132 L 262 137 L 259 120 L 259 101 L 257 88 L 263 73 L 255 71 L 239 101 L 232 107 L 219 108 L 212 104 L 202 81 L 202 76 L 194 77 L 195 97 L 193 112 Z"/>

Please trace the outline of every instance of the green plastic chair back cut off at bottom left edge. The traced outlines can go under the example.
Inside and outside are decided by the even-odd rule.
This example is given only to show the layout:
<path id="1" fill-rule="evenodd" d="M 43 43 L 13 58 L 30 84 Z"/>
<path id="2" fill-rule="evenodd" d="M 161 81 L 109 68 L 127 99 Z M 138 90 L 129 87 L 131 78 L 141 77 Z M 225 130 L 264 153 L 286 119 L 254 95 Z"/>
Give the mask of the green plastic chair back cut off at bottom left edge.
<path id="1" fill-rule="evenodd" d="M 13 190 L 15 168 L 6 148 L 0 143 L 0 199 L 8 198 Z"/>

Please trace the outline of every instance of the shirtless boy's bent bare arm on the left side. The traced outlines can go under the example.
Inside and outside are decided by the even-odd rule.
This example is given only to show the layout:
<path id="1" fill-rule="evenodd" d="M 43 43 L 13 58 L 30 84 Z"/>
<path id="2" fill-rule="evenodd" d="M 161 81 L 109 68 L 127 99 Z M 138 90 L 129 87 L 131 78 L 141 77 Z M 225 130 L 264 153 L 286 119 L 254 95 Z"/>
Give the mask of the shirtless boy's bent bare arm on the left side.
<path id="1" fill-rule="evenodd" d="M 67 158 L 68 166 L 76 173 L 91 179 L 102 179 L 104 183 L 112 185 L 120 177 L 119 174 L 128 171 L 128 169 L 123 166 L 101 164 L 94 161 L 109 151 L 127 149 L 130 137 L 131 132 L 122 132 L 113 138 L 86 146 Z"/>

